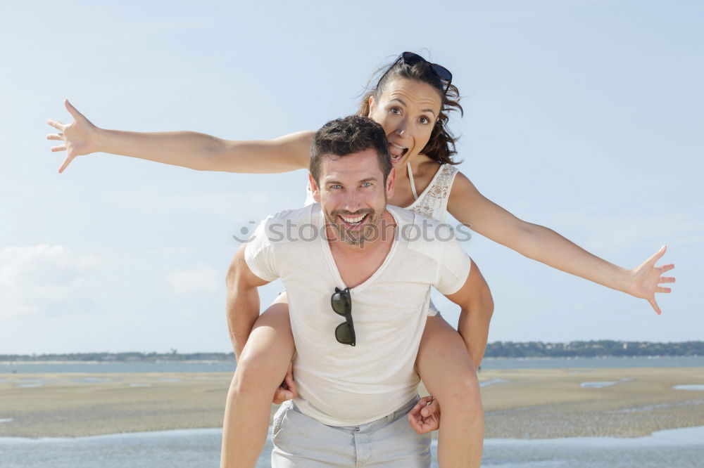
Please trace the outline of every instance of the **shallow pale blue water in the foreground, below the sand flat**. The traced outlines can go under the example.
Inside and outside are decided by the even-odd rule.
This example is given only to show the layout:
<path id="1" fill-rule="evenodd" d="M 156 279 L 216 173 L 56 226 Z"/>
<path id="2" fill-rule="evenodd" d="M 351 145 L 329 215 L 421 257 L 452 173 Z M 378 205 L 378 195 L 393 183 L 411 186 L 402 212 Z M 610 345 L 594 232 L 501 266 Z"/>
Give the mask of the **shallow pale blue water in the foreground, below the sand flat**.
<path id="1" fill-rule="evenodd" d="M 112 434 L 79 438 L 0 438 L 2 468 L 213 468 L 221 429 Z M 269 467 L 267 442 L 257 468 Z M 433 446 L 433 467 L 437 467 Z M 636 438 L 486 439 L 482 467 L 700 468 L 704 426 Z"/>

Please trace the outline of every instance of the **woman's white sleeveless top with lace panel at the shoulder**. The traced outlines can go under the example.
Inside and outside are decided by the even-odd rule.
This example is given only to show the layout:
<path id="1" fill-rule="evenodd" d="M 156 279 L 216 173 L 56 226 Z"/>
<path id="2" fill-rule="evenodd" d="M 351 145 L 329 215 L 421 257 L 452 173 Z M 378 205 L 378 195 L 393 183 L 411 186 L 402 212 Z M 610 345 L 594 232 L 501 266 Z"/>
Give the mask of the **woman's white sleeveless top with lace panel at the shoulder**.
<path id="1" fill-rule="evenodd" d="M 423 193 L 418 195 L 413 180 L 413 171 L 408 164 L 408 178 L 410 179 L 410 190 L 413 191 L 415 201 L 408 205 L 406 209 L 429 216 L 432 219 L 445 222 L 447 216 L 447 200 L 450 197 L 450 189 L 455 181 L 458 170 L 452 164 L 441 164 Z M 306 188 L 306 205 L 315 203 L 313 193 L 310 192 L 310 184 Z"/>

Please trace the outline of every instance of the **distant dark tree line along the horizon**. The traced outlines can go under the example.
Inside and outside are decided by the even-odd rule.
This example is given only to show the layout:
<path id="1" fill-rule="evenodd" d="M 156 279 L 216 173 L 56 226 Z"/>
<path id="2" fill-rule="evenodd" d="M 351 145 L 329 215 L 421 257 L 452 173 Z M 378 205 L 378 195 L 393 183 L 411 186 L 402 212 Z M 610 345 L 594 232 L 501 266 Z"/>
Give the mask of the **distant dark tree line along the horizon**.
<path id="1" fill-rule="evenodd" d="M 609 356 L 704 356 L 704 342 L 650 343 L 600 340 L 591 342 L 494 342 L 486 346 L 487 358 L 601 358 Z M 47 360 L 99 362 L 156 361 L 234 361 L 233 353 L 70 353 L 70 354 L 0 354 L 1 361 L 33 362 Z"/>

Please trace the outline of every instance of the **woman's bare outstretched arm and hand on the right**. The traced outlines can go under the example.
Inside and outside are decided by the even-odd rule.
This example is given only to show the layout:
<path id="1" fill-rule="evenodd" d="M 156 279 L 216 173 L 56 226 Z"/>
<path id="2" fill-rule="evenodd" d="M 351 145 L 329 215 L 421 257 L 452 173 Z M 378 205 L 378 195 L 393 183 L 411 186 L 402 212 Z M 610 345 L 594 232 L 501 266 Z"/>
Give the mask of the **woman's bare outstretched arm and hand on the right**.
<path id="1" fill-rule="evenodd" d="M 636 268 L 622 268 L 590 254 L 552 229 L 518 219 L 479 193 L 461 173 L 455 177 L 448 212 L 477 233 L 529 259 L 646 299 L 657 313 L 660 313 L 660 307 L 655 293 L 670 292 L 669 287 L 661 287 L 660 284 L 674 282 L 674 278 L 662 276 L 674 265 L 655 266 L 655 262 L 665 254 L 665 246 Z"/>

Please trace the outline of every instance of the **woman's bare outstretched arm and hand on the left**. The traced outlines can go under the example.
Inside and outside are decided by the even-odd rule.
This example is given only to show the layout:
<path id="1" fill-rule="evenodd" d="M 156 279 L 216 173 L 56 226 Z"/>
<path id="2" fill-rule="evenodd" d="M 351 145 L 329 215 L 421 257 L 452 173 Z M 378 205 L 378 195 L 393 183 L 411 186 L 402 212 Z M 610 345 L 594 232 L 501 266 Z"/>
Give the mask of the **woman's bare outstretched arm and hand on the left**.
<path id="1" fill-rule="evenodd" d="M 75 157 L 92 152 L 138 157 L 197 171 L 269 174 L 308 168 L 314 134 L 311 131 L 273 140 L 227 141 L 194 131 L 142 133 L 106 130 L 92 124 L 68 100 L 64 104 L 73 116 L 73 122 L 62 124 L 47 120 L 59 133 L 49 134 L 46 138 L 63 141 L 51 151 L 68 153 L 59 172 L 63 172 Z"/>

